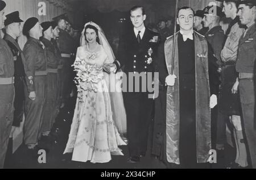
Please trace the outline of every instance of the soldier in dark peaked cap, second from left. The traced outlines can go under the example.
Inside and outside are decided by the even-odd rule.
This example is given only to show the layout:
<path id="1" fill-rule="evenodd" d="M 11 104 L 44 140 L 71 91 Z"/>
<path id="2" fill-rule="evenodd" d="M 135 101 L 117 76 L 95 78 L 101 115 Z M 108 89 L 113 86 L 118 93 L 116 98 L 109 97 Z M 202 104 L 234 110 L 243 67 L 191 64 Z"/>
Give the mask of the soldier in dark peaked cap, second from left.
<path id="1" fill-rule="evenodd" d="M 16 42 L 17 37 L 22 33 L 22 28 L 20 23 L 23 22 L 19 18 L 19 11 L 11 12 L 6 15 L 5 20 L 5 29 L 6 34 L 3 39 L 9 45 L 11 52 L 14 56 L 14 78 L 15 78 L 15 99 L 14 99 L 14 122 L 13 126 L 19 127 L 20 123 L 23 120 L 24 114 L 24 85 L 25 85 L 25 70 L 24 70 L 24 55 L 22 50 L 19 47 L 19 44 Z"/>

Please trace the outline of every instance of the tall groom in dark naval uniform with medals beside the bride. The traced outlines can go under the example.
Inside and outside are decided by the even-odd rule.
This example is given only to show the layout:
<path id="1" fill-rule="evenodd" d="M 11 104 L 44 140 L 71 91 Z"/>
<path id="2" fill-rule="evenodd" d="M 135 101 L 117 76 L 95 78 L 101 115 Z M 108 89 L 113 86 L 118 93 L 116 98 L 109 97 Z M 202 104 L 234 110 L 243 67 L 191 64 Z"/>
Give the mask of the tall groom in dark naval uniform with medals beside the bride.
<path id="1" fill-rule="evenodd" d="M 153 92 L 148 89 L 143 91 L 143 88 L 152 87 L 152 79 L 149 76 L 155 70 L 159 39 L 158 34 L 145 28 L 146 14 L 143 7 L 133 7 L 130 10 L 130 19 L 134 27 L 120 37 L 118 60 L 114 62 L 114 65 L 117 69 L 125 66 L 123 71 L 127 76 L 127 83 L 123 79 L 123 87 L 127 85 L 127 91 L 123 88 L 123 98 L 127 114 L 127 138 L 130 153 L 128 162 L 134 163 L 145 156 L 147 150 L 148 126 L 154 100 L 148 97 Z M 129 74 L 132 76 L 129 77 Z M 134 86 L 133 76 L 140 76 L 136 86 Z M 147 79 L 141 78 L 143 76 Z M 129 81 L 132 80 L 133 84 L 130 84 Z M 139 92 L 135 92 L 134 89 L 138 87 Z"/>

